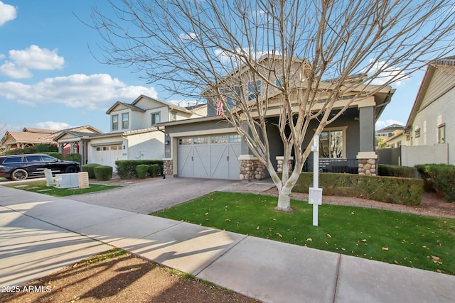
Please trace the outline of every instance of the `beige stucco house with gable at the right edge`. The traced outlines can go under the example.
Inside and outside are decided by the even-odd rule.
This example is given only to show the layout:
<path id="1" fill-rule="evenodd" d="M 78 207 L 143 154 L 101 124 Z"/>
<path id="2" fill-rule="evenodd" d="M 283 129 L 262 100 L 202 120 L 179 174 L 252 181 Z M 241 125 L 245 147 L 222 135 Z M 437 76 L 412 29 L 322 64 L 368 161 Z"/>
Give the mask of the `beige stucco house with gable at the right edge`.
<path id="1" fill-rule="evenodd" d="M 455 56 L 427 68 L 406 124 L 402 165 L 455 165 Z M 417 148 L 418 147 L 418 148 Z"/>

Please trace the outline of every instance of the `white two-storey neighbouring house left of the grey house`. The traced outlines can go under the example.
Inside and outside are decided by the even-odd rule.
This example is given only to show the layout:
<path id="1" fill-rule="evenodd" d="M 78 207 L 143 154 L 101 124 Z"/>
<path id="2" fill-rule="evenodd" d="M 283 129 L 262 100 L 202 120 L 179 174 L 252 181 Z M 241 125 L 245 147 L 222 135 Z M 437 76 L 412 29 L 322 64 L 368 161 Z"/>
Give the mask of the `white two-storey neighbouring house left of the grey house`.
<path id="1" fill-rule="evenodd" d="M 117 160 L 164 158 L 166 141 L 164 127 L 159 127 L 159 123 L 204 115 L 203 105 L 195 109 L 141 95 L 131 104 L 117 101 L 107 110 L 109 133 L 62 133 L 55 140 L 80 141 L 85 144 L 84 163 L 109 165 L 115 170 Z"/>

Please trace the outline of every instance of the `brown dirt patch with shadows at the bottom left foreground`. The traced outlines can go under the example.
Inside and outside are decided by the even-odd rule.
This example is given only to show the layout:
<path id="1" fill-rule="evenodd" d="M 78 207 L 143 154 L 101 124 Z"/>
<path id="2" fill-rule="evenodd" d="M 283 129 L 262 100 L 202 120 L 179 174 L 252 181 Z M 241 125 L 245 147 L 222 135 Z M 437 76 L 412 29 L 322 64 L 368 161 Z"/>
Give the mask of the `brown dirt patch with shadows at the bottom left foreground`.
<path id="1" fill-rule="evenodd" d="M 15 290 L 0 302 L 259 302 L 119 249 Z"/>

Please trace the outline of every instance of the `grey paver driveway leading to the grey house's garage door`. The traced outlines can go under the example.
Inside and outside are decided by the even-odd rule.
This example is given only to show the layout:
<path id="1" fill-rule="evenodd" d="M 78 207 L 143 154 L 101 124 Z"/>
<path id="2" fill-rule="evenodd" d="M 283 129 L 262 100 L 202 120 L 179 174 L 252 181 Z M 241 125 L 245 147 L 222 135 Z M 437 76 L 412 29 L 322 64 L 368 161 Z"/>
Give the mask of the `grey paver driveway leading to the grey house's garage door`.
<path id="1" fill-rule="evenodd" d="M 195 178 L 154 179 L 90 194 L 77 194 L 71 199 L 90 204 L 151 214 L 161 209 L 190 201 L 217 190 L 229 189 L 238 181 Z"/>

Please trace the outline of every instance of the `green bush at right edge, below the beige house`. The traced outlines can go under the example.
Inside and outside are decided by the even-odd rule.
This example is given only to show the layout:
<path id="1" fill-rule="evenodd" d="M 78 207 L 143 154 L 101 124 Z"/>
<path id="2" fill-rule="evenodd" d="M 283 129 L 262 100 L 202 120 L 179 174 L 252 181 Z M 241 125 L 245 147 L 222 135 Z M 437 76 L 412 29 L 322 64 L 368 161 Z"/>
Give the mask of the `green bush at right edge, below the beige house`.
<path id="1" fill-rule="evenodd" d="M 416 165 L 427 192 L 437 192 L 445 202 L 455 202 L 455 166 L 446 164 Z"/>

